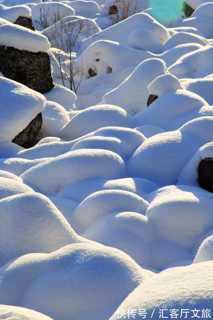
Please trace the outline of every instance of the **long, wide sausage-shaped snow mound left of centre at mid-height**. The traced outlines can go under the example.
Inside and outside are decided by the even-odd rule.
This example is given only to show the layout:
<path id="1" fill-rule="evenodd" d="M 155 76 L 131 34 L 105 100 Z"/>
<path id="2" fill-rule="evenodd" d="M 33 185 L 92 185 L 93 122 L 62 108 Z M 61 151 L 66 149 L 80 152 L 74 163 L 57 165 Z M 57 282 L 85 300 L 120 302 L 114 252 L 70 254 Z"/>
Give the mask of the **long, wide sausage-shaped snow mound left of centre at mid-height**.
<path id="1" fill-rule="evenodd" d="M 114 152 L 80 149 L 38 164 L 21 178 L 43 194 L 55 196 L 68 183 L 95 177 L 119 179 L 124 177 L 125 171 L 124 161 Z"/>

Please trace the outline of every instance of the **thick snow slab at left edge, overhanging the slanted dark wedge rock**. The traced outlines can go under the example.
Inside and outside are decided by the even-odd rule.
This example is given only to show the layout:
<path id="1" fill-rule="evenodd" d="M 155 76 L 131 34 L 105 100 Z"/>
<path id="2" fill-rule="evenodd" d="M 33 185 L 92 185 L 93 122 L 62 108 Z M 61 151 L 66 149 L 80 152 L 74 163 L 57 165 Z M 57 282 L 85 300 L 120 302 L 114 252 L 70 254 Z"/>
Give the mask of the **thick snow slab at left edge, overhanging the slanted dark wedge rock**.
<path id="1" fill-rule="evenodd" d="M 0 30 L 4 26 L 7 27 L 3 25 Z M 4 77 L 0 77 L 0 92 L 0 142 L 11 141 L 44 110 L 46 99 L 25 85 Z"/>

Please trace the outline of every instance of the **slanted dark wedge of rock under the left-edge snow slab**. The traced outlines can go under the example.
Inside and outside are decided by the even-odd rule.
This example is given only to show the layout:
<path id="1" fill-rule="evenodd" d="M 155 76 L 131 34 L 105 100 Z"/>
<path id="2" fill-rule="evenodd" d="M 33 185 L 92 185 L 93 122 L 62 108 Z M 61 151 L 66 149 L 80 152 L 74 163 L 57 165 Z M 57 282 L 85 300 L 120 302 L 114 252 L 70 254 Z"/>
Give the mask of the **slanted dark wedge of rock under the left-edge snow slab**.
<path id="1" fill-rule="evenodd" d="M 24 148 L 30 148 L 36 136 L 39 133 L 39 130 L 42 125 L 42 116 L 39 113 L 29 124 L 28 126 L 22 130 L 22 132 L 18 133 L 12 142 L 18 144 Z"/>

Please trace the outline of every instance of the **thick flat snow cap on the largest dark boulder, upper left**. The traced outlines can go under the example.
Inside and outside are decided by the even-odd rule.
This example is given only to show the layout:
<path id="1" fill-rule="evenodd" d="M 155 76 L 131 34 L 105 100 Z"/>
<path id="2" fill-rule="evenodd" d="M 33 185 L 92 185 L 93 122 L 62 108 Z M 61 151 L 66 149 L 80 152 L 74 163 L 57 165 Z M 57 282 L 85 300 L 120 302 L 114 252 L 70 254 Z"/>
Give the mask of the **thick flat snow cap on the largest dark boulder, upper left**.
<path id="1" fill-rule="evenodd" d="M 0 44 L 30 52 L 48 52 L 50 48 L 45 36 L 16 24 L 0 26 Z"/>

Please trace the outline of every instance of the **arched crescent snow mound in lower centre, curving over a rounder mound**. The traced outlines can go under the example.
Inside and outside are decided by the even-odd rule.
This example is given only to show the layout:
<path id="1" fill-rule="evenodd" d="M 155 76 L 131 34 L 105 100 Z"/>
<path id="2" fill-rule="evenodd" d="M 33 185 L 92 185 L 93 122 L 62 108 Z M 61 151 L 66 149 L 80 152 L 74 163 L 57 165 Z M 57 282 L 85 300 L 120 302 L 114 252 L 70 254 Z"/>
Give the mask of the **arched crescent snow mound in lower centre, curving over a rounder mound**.
<path id="1" fill-rule="evenodd" d="M 124 190 L 103 190 L 92 193 L 74 211 L 82 233 L 95 220 L 111 212 L 132 211 L 145 214 L 149 203 L 136 194 Z"/>

